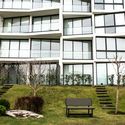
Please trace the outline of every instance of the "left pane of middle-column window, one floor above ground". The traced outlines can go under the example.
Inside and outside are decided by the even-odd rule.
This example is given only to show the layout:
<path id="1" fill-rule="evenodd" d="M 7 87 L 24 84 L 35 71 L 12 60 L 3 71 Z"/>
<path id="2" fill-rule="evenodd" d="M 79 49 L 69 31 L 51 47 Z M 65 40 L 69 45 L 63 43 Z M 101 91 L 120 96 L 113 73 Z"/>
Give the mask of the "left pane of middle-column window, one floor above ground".
<path id="1" fill-rule="evenodd" d="M 72 59 L 72 41 L 64 41 L 64 58 Z"/>

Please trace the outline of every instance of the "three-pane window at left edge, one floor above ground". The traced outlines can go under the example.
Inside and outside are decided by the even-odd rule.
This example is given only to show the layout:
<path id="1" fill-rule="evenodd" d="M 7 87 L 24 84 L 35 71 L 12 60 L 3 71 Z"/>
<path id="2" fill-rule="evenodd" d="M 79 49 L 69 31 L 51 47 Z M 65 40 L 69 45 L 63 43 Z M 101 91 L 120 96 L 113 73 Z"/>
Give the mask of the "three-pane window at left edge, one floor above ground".
<path id="1" fill-rule="evenodd" d="M 28 40 L 1 40 L 0 57 L 29 57 Z"/>

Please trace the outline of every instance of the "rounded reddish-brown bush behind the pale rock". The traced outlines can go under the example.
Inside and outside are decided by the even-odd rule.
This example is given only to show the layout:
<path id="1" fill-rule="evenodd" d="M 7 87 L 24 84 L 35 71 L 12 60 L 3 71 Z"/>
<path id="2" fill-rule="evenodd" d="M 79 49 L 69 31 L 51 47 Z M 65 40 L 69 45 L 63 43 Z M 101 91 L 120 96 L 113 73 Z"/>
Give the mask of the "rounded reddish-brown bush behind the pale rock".
<path id="1" fill-rule="evenodd" d="M 42 97 L 20 97 L 15 102 L 15 109 L 29 110 L 36 113 L 40 113 L 44 104 Z"/>

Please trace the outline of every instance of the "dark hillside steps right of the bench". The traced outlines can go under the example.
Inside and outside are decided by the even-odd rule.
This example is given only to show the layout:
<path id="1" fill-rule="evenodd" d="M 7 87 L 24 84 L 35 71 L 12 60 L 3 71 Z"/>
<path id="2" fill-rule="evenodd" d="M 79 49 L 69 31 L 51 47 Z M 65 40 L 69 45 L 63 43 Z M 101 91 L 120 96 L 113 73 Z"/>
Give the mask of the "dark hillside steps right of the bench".
<path id="1" fill-rule="evenodd" d="M 105 86 L 96 86 L 96 94 L 102 109 L 114 110 L 115 106 L 107 93 Z"/>

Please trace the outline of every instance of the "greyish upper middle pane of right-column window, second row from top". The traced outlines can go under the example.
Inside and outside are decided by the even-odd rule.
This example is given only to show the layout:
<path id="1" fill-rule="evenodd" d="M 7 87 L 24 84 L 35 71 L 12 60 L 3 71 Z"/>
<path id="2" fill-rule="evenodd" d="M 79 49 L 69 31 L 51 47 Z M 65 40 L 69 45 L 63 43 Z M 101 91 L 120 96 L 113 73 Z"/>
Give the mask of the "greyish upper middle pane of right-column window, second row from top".
<path id="1" fill-rule="evenodd" d="M 105 15 L 105 26 L 114 26 L 114 15 Z"/>

